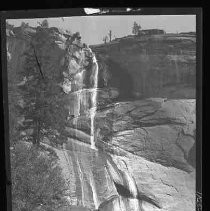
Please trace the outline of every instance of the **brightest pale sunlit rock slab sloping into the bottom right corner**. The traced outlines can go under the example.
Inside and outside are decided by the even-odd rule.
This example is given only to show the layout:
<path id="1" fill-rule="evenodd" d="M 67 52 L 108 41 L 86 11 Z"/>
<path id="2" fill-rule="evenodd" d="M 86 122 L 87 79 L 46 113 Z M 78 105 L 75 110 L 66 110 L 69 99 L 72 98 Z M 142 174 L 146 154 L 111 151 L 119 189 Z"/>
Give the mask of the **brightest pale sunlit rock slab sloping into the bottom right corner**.
<path id="1" fill-rule="evenodd" d="M 143 202 L 145 211 L 195 210 L 195 171 L 187 173 L 173 167 L 168 168 L 135 155 L 127 158 L 115 156 L 114 161 L 117 163 L 122 159 L 126 161 L 138 189 L 154 196 L 162 206 L 162 209 L 158 209 Z"/>

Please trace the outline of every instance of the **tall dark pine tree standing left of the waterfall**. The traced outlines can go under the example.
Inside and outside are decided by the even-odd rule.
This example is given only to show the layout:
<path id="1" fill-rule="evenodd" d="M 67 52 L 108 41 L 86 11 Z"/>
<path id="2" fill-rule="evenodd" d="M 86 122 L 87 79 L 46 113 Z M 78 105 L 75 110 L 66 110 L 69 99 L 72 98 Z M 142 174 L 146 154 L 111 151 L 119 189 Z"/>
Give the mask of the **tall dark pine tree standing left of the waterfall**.
<path id="1" fill-rule="evenodd" d="M 63 139 L 68 115 L 68 110 L 65 109 L 65 95 L 58 86 L 60 75 L 47 72 L 41 63 L 45 58 L 40 52 L 46 40 L 49 41 L 46 30 L 40 29 L 33 37 L 30 49 L 25 52 L 25 65 L 21 72 L 26 81 L 20 86 L 24 106 L 19 107 L 19 111 L 25 121 L 19 130 L 32 130 L 27 139 L 38 145 L 43 137 L 48 137 L 51 141 L 61 137 Z"/>

